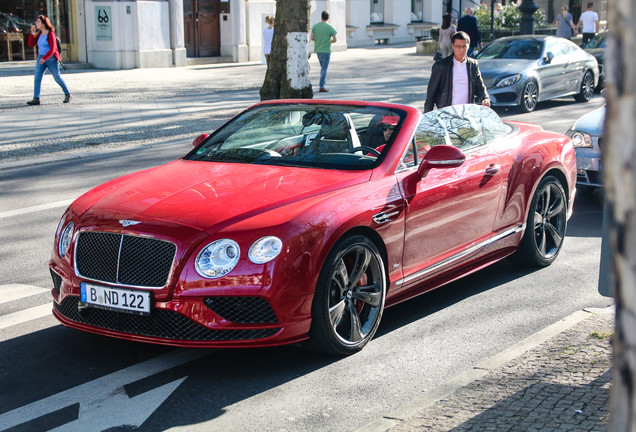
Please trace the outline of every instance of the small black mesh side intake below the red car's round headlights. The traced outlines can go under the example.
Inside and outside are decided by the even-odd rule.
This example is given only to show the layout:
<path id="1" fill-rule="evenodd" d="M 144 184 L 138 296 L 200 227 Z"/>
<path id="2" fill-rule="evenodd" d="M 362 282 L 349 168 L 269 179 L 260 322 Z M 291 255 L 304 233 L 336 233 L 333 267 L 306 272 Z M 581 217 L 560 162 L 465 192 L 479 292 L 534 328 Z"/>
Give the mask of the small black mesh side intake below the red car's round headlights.
<path id="1" fill-rule="evenodd" d="M 235 323 L 278 322 L 268 301 L 261 297 L 206 297 L 203 303 L 212 312 Z"/>

